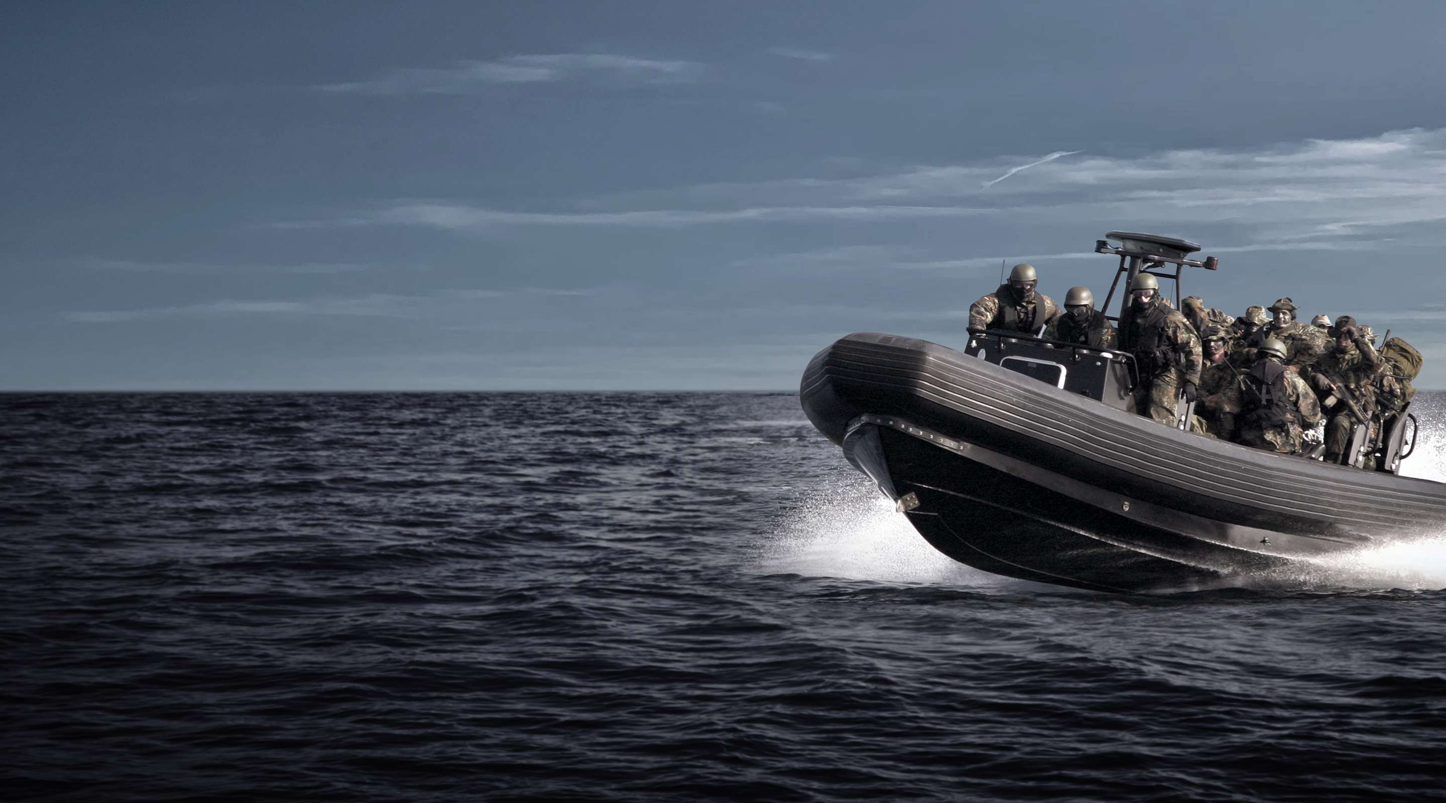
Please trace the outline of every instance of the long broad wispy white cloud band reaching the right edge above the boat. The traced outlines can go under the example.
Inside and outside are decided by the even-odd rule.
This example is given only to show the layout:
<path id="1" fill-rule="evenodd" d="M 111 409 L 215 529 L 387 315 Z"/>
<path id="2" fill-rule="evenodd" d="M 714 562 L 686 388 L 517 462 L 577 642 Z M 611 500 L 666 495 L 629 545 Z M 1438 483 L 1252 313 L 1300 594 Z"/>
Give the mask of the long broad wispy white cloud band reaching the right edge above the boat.
<path id="1" fill-rule="evenodd" d="M 564 211 L 398 199 L 380 209 L 275 225 L 487 231 L 995 215 L 1089 231 L 1098 230 L 1102 220 L 1167 233 L 1229 228 L 1231 247 L 1241 251 L 1346 250 L 1361 247 L 1352 241 L 1391 237 L 1423 243 L 1426 231 L 1446 238 L 1437 231 L 1446 222 L 1446 129 L 1239 150 L 1063 159 L 1076 153 L 1056 152 L 1024 165 L 1015 159 L 1015 166 L 1008 166 L 1005 157 L 989 157 L 846 178 L 693 185 L 574 199 L 574 208 Z M 586 209 L 578 211 L 583 205 Z M 1406 234 L 1406 228 L 1414 234 Z"/>

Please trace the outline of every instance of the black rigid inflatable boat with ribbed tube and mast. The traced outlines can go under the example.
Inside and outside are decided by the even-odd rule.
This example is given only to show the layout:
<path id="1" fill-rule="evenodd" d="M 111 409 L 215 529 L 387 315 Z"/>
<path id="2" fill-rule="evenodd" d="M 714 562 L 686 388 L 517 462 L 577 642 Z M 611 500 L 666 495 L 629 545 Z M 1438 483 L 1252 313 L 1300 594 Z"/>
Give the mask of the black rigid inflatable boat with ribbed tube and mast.
<path id="1" fill-rule="evenodd" d="M 1109 233 L 1115 285 L 1192 243 Z M 1186 250 L 1189 248 L 1189 250 Z M 1111 289 L 1113 296 L 1113 287 Z M 1177 300 L 1178 303 L 1178 300 Z M 1105 308 L 1108 311 L 1109 300 Z M 1134 412 L 1129 355 L 970 331 L 964 351 L 860 332 L 813 358 L 813 425 L 936 549 L 1027 581 L 1113 592 L 1246 582 L 1293 562 L 1446 524 L 1446 485 L 1400 477 L 1408 413 L 1382 422 L 1379 471 L 1216 440 Z"/>

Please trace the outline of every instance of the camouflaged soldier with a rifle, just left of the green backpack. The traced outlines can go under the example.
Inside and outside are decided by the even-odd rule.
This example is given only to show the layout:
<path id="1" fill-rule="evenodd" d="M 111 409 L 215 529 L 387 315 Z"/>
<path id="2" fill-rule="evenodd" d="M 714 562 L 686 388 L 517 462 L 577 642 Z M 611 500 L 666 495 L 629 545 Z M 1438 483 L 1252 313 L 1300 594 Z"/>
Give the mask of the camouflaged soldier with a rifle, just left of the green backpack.
<path id="1" fill-rule="evenodd" d="M 1355 425 L 1371 425 L 1377 409 L 1374 386 L 1381 357 L 1349 315 L 1338 318 L 1329 334 L 1335 338 L 1335 345 L 1320 355 L 1310 384 L 1316 387 L 1322 407 L 1330 412 L 1325 459 L 1340 462 Z"/>

